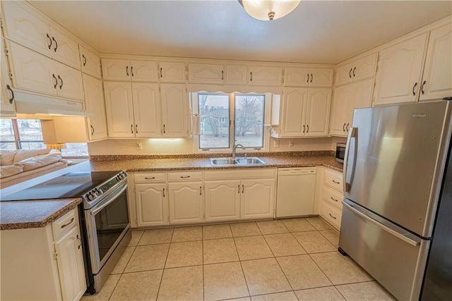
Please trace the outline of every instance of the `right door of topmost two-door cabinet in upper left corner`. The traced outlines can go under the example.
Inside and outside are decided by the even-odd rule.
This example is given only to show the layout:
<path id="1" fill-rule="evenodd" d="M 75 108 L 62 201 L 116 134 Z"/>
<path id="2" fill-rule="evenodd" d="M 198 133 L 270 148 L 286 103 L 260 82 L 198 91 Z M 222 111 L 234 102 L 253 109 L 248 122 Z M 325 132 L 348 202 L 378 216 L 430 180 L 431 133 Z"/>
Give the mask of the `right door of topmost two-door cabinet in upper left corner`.
<path id="1" fill-rule="evenodd" d="M 80 70 L 78 44 L 52 28 L 52 58 Z"/>

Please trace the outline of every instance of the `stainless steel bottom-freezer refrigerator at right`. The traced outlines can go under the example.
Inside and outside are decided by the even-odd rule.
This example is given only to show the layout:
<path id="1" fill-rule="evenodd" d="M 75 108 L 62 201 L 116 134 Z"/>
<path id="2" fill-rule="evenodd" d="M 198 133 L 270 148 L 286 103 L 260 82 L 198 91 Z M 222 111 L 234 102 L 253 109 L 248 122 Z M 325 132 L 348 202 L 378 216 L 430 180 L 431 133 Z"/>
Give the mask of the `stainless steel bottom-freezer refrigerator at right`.
<path id="1" fill-rule="evenodd" d="M 451 225 L 438 223 L 435 228 L 438 209 L 452 210 L 451 194 L 441 195 L 451 185 L 444 178 L 451 111 L 452 102 L 439 101 L 354 113 L 345 150 L 339 250 L 398 300 L 420 299 L 435 233 Z M 439 207 L 440 199 L 448 209 Z M 439 240 L 445 241 L 439 248 L 448 247 L 448 256 L 437 260 L 451 266 L 452 229 L 442 228 L 441 233 Z M 441 284 L 449 292 L 450 276 Z"/>

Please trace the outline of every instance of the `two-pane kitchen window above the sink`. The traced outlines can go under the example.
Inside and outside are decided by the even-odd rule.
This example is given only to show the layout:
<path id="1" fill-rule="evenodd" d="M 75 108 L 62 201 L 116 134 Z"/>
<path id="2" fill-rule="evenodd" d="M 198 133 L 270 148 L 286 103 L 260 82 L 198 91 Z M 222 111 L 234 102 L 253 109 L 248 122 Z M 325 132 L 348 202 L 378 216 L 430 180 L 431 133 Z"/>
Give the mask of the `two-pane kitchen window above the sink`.
<path id="1" fill-rule="evenodd" d="M 234 141 L 247 149 L 266 149 L 266 94 L 199 92 L 191 97 L 199 114 L 201 135 L 195 137 L 199 151 L 230 152 Z"/>

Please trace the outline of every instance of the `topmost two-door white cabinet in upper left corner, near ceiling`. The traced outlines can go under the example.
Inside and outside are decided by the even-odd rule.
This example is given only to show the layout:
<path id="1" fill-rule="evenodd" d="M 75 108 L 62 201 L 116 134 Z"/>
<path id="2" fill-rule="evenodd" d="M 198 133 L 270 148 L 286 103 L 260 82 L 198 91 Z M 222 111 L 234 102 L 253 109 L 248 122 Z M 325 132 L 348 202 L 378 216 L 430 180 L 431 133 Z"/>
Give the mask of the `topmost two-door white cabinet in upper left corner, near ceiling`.
<path id="1" fill-rule="evenodd" d="M 46 20 L 35 16 L 23 4 L 3 1 L 8 39 L 23 44 L 45 56 L 80 69 L 78 44 L 52 27 Z"/>

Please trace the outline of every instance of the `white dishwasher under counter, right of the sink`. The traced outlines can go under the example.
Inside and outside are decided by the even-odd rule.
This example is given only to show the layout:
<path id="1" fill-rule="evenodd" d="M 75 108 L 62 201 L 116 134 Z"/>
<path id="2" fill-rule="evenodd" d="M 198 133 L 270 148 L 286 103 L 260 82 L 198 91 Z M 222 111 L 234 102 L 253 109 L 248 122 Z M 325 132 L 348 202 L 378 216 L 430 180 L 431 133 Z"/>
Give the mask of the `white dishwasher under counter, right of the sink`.
<path id="1" fill-rule="evenodd" d="M 276 217 L 314 214 L 316 167 L 278 168 Z"/>

